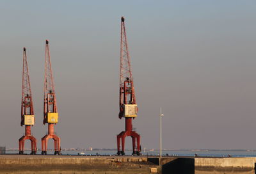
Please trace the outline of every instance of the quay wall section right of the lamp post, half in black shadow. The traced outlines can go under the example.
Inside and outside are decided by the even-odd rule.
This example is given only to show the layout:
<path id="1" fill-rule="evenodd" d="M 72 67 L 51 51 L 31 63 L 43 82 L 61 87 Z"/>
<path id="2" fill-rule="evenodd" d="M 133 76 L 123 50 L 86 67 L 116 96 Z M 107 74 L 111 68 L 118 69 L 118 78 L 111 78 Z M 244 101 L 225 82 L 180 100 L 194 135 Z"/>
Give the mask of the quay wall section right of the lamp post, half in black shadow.
<path id="1" fill-rule="evenodd" d="M 178 157 L 168 160 L 161 158 L 163 174 L 255 174 L 256 157 Z"/>

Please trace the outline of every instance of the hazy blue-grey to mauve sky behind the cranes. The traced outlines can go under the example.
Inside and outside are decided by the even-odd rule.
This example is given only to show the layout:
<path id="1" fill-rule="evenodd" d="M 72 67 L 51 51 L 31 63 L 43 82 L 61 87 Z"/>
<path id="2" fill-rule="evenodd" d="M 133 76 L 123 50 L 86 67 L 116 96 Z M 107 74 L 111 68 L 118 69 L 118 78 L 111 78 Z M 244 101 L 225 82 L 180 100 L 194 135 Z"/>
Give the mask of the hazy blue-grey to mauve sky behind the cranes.
<path id="1" fill-rule="evenodd" d="M 116 148 L 120 17 L 125 17 L 142 148 L 256 149 L 256 1 L 0 1 L 0 146 L 17 148 L 22 48 L 43 125 L 49 40 L 61 148 Z M 49 141 L 49 148 L 53 148 Z M 126 138 L 131 148 L 131 138 Z M 29 142 L 26 141 L 26 148 Z"/>

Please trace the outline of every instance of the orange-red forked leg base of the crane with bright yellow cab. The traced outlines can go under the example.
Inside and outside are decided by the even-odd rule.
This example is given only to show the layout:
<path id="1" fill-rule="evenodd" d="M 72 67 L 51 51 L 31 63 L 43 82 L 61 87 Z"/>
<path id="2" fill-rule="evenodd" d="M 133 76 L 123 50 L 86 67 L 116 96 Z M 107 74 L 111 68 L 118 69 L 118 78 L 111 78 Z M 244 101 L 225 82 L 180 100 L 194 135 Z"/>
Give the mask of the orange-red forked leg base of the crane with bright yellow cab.
<path id="1" fill-rule="evenodd" d="M 42 138 L 42 155 L 47 155 L 47 144 L 49 139 L 53 139 L 54 141 L 54 155 L 61 155 L 60 138 L 54 133 L 54 123 L 48 123 L 47 135 Z"/>

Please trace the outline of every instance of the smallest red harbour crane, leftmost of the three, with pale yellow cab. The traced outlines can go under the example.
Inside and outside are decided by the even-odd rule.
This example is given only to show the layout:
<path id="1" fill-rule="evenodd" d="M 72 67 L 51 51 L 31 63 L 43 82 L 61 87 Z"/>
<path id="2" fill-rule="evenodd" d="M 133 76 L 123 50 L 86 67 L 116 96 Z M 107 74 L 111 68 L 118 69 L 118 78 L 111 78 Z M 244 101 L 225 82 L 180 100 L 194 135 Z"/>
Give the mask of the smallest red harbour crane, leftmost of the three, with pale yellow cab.
<path id="1" fill-rule="evenodd" d="M 23 48 L 23 70 L 22 70 L 22 93 L 21 93 L 21 122 L 25 125 L 25 135 L 19 139 L 19 154 L 24 153 L 24 143 L 26 139 L 31 141 L 31 154 L 36 154 L 36 139 L 31 135 L 31 125 L 35 123 L 32 93 L 30 88 L 28 62 L 26 48 Z"/>

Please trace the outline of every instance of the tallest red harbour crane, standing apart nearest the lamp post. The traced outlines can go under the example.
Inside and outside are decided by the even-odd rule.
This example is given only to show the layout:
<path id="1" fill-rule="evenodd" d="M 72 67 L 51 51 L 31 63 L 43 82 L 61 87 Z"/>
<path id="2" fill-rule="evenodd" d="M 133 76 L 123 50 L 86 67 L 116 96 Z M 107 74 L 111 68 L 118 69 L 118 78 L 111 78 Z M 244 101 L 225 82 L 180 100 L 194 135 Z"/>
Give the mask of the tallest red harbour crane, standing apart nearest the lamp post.
<path id="1" fill-rule="evenodd" d="M 120 98 L 119 98 L 119 118 L 125 118 L 125 131 L 117 136 L 117 154 L 125 155 L 125 137 L 132 138 L 132 154 L 140 155 L 140 134 L 136 129 L 132 129 L 132 119 L 136 118 L 138 107 L 132 79 L 131 59 L 128 51 L 128 43 L 125 32 L 124 17 L 121 17 L 121 49 L 120 49 Z M 122 139 L 122 151 L 120 150 L 120 141 Z M 137 142 L 137 145 L 136 145 Z"/>

